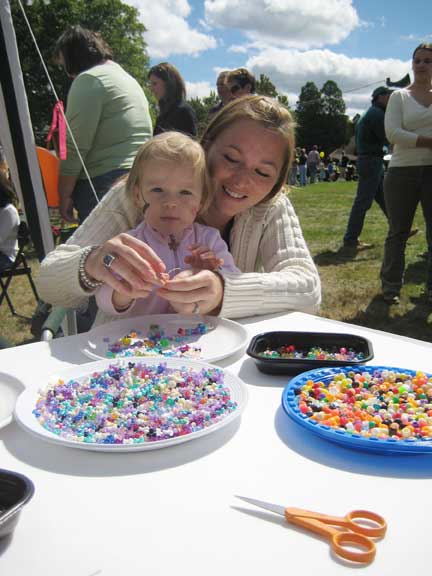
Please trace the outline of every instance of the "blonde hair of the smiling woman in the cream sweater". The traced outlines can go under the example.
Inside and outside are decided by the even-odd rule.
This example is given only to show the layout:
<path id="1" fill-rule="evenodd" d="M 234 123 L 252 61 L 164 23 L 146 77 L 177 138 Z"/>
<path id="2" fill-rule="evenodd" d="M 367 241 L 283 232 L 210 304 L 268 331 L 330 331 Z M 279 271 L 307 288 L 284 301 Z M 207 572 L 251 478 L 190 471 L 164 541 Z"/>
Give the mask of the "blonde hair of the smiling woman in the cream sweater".
<path id="1" fill-rule="evenodd" d="M 201 137 L 208 152 L 220 134 L 239 120 L 253 120 L 267 130 L 280 134 L 285 141 L 284 161 L 276 184 L 265 200 L 275 196 L 285 185 L 295 150 L 295 123 L 290 112 L 268 96 L 243 96 L 224 106 L 210 121 Z"/>

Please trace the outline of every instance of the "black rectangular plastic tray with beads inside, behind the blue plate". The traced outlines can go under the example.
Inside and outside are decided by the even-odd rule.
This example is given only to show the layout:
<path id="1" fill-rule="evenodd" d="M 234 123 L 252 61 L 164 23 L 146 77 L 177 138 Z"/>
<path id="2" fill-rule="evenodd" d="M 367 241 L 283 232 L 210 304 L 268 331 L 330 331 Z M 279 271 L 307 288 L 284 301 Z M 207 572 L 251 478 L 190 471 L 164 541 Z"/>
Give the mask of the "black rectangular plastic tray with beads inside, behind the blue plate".
<path id="1" fill-rule="evenodd" d="M 297 374 L 322 366 L 356 365 L 373 358 L 372 344 L 355 334 L 264 332 L 252 338 L 246 353 L 262 372 Z"/>

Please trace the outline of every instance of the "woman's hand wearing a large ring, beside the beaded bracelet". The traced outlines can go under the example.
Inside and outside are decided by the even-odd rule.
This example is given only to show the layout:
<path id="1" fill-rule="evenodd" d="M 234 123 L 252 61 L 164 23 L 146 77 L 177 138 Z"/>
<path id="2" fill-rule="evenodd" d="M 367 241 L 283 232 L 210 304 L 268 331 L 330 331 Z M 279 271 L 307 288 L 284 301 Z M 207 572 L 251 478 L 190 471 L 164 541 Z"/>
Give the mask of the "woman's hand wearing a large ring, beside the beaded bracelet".
<path id="1" fill-rule="evenodd" d="M 107 254 L 114 256 L 109 268 L 103 262 Z M 162 286 L 167 278 L 165 264 L 159 256 L 129 234 L 119 234 L 93 250 L 86 260 L 85 271 L 129 298 L 148 294 L 154 286 Z"/>

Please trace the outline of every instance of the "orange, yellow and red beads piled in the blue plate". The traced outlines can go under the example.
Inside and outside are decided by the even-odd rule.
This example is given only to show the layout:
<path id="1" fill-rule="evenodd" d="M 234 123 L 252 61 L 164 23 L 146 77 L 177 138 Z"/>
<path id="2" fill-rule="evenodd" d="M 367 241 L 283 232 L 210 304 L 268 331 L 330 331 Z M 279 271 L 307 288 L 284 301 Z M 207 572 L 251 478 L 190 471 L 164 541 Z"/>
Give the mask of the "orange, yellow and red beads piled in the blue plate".
<path id="1" fill-rule="evenodd" d="M 432 440 L 432 376 L 394 370 L 352 370 L 330 382 L 308 380 L 298 408 L 320 424 L 367 438 Z"/>

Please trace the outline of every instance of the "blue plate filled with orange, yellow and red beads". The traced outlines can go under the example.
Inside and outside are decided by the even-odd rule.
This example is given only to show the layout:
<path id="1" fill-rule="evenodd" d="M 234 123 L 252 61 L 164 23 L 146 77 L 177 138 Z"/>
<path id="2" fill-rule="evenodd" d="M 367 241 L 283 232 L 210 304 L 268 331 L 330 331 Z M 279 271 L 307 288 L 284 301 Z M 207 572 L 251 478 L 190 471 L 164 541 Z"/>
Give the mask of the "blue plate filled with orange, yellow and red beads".
<path id="1" fill-rule="evenodd" d="M 349 448 L 432 453 L 432 375 L 388 366 L 320 368 L 282 394 L 290 418 Z"/>

